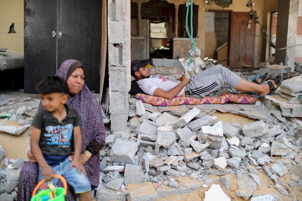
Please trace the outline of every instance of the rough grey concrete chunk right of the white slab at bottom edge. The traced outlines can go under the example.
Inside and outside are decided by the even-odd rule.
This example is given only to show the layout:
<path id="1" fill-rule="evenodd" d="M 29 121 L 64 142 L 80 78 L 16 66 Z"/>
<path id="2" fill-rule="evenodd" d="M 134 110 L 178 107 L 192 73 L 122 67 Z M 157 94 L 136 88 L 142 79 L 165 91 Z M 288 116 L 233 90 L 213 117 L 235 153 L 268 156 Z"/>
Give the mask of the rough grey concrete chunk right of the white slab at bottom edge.
<path id="1" fill-rule="evenodd" d="M 256 183 L 249 179 L 245 174 L 239 174 L 237 176 L 237 186 L 239 189 L 235 192 L 236 195 L 246 200 L 248 200 L 253 192 L 257 190 Z"/>

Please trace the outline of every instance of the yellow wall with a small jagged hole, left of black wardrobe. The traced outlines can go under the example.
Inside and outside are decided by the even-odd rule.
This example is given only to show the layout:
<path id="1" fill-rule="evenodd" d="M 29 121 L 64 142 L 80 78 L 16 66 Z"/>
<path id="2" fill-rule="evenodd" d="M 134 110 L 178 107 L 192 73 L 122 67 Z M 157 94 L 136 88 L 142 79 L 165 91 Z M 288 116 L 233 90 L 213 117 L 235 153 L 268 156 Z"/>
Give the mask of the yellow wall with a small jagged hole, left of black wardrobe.
<path id="1" fill-rule="evenodd" d="M 0 46 L 9 51 L 24 53 L 24 0 L 1 1 Z"/>

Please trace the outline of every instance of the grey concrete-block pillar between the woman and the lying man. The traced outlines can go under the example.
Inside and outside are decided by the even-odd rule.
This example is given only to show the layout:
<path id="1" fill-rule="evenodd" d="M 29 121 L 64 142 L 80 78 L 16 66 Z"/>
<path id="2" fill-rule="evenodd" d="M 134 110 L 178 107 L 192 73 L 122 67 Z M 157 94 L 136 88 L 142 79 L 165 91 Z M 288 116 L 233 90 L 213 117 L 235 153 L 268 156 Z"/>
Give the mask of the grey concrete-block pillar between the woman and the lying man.
<path id="1" fill-rule="evenodd" d="M 130 1 L 108 0 L 108 73 L 111 131 L 126 131 L 130 88 Z"/>

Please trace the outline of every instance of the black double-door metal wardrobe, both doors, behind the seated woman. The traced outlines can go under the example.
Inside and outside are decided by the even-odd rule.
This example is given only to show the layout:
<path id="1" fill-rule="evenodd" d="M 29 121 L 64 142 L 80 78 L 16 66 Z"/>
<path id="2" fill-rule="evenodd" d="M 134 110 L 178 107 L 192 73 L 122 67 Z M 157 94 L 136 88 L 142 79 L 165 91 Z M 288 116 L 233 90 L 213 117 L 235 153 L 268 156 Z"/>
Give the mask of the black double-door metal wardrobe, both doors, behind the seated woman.
<path id="1" fill-rule="evenodd" d="M 41 78 L 54 75 L 66 59 L 85 65 L 85 83 L 99 93 L 101 5 L 99 0 L 24 1 L 25 93 L 36 93 Z"/>

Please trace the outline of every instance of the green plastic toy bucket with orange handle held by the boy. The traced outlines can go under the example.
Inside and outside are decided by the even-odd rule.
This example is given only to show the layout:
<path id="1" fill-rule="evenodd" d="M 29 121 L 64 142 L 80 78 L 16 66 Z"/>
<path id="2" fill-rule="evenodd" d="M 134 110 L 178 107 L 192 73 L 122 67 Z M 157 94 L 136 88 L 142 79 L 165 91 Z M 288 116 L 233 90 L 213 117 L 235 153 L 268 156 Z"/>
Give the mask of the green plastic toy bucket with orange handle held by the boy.
<path id="1" fill-rule="evenodd" d="M 51 201 L 65 201 L 65 195 L 67 193 L 67 183 L 66 180 L 64 179 L 64 177 L 62 177 L 61 175 L 57 175 L 55 174 L 54 177 L 58 177 L 60 180 L 62 180 L 63 184 L 64 184 L 64 188 L 62 187 L 57 187 L 57 191 L 56 191 L 56 198 L 50 199 Z M 35 187 L 33 194 L 31 196 L 31 201 L 38 201 L 38 200 L 42 200 L 42 197 L 45 195 L 49 195 L 50 193 L 50 189 L 47 190 L 41 190 L 39 193 L 36 194 L 38 188 L 41 186 L 41 184 L 44 182 L 45 180 L 41 180 L 37 186 Z"/>

